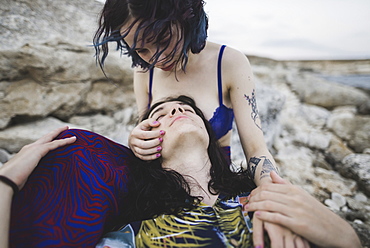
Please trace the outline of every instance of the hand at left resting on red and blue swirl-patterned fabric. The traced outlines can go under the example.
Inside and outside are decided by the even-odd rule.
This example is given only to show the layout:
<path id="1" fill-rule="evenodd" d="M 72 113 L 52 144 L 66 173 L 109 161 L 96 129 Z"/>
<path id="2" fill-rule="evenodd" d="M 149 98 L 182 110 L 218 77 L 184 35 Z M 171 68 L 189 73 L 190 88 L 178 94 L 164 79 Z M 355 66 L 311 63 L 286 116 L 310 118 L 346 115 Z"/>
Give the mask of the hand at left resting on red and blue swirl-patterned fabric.
<path id="1" fill-rule="evenodd" d="M 14 157 L 0 168 L 0 175 L 12 180 L 21 189 L 27 181 L 28 176 L 35 169 L 39 161 L 49 151 L 58 147 L 71 144 L 76 137 L 54 140 L 62 131 L 68 127 L 58 128 L 34 143 L 24 146 Z"/>

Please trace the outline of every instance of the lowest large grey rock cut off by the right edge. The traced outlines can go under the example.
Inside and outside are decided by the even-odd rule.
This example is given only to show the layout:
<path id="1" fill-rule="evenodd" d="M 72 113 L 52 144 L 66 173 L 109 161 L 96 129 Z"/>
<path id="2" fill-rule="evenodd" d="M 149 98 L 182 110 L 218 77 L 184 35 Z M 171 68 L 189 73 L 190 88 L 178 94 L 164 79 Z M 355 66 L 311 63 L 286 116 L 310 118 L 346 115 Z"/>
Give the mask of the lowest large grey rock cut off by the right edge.
<path id="1" fill-rule="evenodd" d="M 339 172 L 344 177 L 353 178 L 358 182 L 359 188 L 370 196 L 370 155 L 351 154 L 342 161 Z"/>

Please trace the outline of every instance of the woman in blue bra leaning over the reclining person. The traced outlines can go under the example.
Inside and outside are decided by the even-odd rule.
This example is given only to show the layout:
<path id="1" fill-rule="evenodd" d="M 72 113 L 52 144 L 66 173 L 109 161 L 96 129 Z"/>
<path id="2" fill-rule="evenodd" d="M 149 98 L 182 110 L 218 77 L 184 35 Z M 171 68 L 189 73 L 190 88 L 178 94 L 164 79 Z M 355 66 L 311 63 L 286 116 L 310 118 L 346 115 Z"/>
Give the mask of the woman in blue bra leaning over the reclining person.
<path id="1" fill-rule="evenodd" d="M 202 0 L 107 0 L 94 37 L 96 59 L 103 67 L 109 42 L 132 58 L 139 115 L 168 96 L 192 97 L 228 157 L 235 116 L 255 184 L 271 183 L 275 161 L 264 141 L 249 61 L 233 48 L 206 40 L 203 6 Z M 161 156 L 165 132 L 152 130 L 159 125 L 150 118 L 132 130 L 129 146 L 138 158 Z M 263 245 L 264 229 L 276 242 L 285 239 L 283 227 L 256 220 L 255 243 Z"/>

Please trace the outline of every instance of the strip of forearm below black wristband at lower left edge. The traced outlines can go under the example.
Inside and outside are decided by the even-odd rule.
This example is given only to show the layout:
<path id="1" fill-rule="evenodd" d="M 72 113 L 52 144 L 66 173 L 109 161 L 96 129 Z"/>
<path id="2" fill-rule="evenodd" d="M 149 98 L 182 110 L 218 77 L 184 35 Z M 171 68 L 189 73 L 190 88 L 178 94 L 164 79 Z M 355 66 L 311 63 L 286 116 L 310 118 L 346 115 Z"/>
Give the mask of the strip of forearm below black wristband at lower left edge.
<path id="1" fill-rule="evenodd" d="M 13 197 L 13 189 L 0 181 L 0 247 L 8 247 L 10 207 Z"/>

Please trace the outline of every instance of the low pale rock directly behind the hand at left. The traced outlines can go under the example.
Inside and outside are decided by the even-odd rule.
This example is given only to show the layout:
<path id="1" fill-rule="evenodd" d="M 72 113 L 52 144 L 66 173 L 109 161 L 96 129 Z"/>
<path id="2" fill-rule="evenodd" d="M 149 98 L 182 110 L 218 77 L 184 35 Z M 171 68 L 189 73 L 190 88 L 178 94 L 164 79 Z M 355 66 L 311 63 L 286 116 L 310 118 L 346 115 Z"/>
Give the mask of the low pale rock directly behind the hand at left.
<path id="1" fill-rule="evenodd" d="M 16 153 L 23 146 L 36 141 L 48 132 L 66 125 L 70 128 L 76 127 L 53 117 L 48 117 L 0 130 L 0 147 L 6 149 L 8 152 Z"/>

